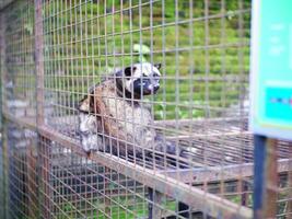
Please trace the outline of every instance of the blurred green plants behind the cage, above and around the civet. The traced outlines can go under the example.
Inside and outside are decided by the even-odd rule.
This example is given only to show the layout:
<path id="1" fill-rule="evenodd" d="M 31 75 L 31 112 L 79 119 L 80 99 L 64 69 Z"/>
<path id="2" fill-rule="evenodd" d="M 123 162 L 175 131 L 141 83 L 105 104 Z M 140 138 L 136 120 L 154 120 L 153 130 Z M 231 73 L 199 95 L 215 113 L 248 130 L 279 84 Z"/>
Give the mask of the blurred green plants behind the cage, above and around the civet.
<path id="1" fill-rule="evenodd" d="M 162 88 L 151 99 L 155 119 L 240 110 L 248 83 L 250 1 L 139 2 L 45 2 L 46 88 L 59 88 L 62 103 L 73 107 L 80 92 L 115 68 L 162 62 Z"/>

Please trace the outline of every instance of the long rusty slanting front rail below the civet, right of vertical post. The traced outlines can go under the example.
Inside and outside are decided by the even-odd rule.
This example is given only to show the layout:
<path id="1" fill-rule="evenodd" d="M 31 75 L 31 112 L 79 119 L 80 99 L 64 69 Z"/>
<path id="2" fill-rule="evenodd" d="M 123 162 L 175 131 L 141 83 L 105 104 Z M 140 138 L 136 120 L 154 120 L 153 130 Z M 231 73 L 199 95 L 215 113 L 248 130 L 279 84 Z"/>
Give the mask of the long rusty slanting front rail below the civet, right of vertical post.
<path id="1" fill-rule="evenodd" d="M 74 152 L 86 157 L 87 154 L 75 141 L 65 137 L 56 131 L 51 131 L 48 128 L 40 127 L 39 131 L 48 139 L 55 139 L 56 142 L 62 145 L 66 148 L 73 150 Z M 188 203 L 189 206 L 205 209 L 209 206 L 211 211 L 210 216 L 224 216 L 230 218 L 237 216 L 238 218 L 252 218 L 252 210 L 246 207 L 240 207 L 238 205 L 222 200 L 220 197 L 205 193 L 203 191 L 195 187 L 189 187 L 185 183 L 170 178 L 163 174 L 160 174 L 152 170 L 143 169 L 142 166 L 136 165 L 131 162 L 127 162 L 122 159 L 118 159 L 115 155 L 106 153 L 91 153 L 89 159 L 102 163 L 103 165 L 117 171 L 118 173 L 125 174 L 149 187 L 155 187 L 156 191 L 176 197 L 184 203 Z M 179 196 L 177 196 L 179 194 Z"/>

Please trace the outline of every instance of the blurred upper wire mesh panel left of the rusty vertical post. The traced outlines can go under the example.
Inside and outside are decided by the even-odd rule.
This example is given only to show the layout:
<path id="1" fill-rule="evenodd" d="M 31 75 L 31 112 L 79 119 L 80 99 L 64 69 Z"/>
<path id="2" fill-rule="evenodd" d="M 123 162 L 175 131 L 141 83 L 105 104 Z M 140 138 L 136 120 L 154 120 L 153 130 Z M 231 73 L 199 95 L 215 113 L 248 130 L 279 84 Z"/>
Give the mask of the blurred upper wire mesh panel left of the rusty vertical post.
<path id="1" fill-rule="evenodd" d="M 34 8 L 32 1 L 15 2 L 3 12 L 3 108 L 15 117 L 36 117 L 34 64 Z"/>

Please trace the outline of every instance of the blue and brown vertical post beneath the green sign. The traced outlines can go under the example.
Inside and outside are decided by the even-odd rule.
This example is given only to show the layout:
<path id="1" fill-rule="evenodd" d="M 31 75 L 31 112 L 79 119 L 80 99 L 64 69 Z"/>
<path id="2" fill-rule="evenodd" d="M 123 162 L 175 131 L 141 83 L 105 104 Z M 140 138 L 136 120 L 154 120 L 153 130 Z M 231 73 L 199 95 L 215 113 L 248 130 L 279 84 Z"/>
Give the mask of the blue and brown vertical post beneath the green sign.
<path id="1" fill-rule="evenodd" d="M 277 141 L 254 136 L 254 218 L 276 218 L 277 215 Z"/>

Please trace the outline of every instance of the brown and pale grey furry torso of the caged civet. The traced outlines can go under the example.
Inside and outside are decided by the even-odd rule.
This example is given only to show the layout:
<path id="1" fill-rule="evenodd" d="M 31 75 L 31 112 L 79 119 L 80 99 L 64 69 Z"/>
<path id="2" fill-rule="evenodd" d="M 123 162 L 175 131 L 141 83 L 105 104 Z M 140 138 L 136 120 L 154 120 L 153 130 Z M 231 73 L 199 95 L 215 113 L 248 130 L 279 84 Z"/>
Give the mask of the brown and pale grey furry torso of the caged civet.
<path id="1" fill-rule="evenodd" d="M 117 92 L 114 80 L 97 85 L 84 101 L 90 102 L 98 134 L 104 143 L 112 146 L 112 151 L 126 155 L 152 148 L 155 131 L 149 127 L 153 123 L 150 112 L 137 101 L 125 100 Z"/>

